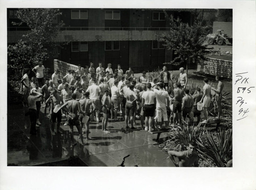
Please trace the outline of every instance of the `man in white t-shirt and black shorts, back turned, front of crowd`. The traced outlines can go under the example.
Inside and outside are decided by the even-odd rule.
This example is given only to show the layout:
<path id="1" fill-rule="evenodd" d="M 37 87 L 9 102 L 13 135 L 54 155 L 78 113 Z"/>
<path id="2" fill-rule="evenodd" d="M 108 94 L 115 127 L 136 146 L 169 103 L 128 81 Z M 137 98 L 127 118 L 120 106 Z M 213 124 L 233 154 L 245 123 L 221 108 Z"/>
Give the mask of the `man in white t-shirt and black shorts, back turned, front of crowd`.
<path id="1" fill-rule="evenodd" d="M 142 94 L 142 109 L 145 116 L 145 131 L 153 131 L 153 118 L 156 109 L 156 95 L 151 90 L 151 83 L 146 84 L 146 91 Z M 148 128 L 149 127 L 149 128 Z"/>

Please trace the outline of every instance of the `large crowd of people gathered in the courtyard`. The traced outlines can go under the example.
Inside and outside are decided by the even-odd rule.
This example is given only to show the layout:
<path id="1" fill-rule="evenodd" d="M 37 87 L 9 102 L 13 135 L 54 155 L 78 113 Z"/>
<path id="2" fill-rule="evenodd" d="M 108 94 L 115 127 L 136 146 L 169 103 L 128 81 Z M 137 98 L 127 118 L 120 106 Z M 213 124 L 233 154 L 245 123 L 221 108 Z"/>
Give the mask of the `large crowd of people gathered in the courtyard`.
<path id="1" fill-rule="evenodd" d="M 138 124 L 136 118 L 140 118 L 139 128 L 145 131 L 181 125 L 182 120 L 200 122 L 202 112 L 198 110 L 198 102 L 203 104 L 203 123 L 207 123 L 212 90 L 217 93 L 219 112 L 215 120 L 221 118 L 220 103 L 224 85 L 220 78 L 216 77 L 216 89 L 205 78 L 203 92 L 197 88 L 194 94 L 190 94 L 186 88 L 188 79 L 183 67 L 180 68 L 178 82 L 172 88 L 168 83 L 172 74 L 166 66 L 163 66 L 160 76 L 152 80 L 146 72 L 142 72 L 141 77 L 135 77 L 131 67 L 125 73 L 121 65 L 113 70 L 111 63 L 107 68 L 99 63 L 96 69 L 93 63 L 85 68 L 78 65 L 77 70 L 68 70 L 63 78 L 59 78 L 60 71 L 55 70 L 51 79 L 46 79 L 44 69 L 44 65 L 38 62 L 32 69 L 36 78 L 32 77 L 29 82 L 30 69 L 24 69 L 21 80 L 23 102 L 29 109 L 27 114 L 30 115 L 32 135 L 36 134 L 36 127 L 41 125 L 41 106 L 44 106 L 45 117 L 50 119 L 53 135 L 61 133 L 61 119 L 66 118 L 64 125 L 70 127 L 72 145 L 76 144 L 73 137 L 74 126 L 83 145 L 82 129 L 85 129 L 85 139 L 92 139 L 89 137 L 90 122 L 100 122 L 100 118 L 104 133 L 110 133 L 107 129 L 109 119 L 124 120 L 124 128 L 137 129 L 134 125 Z"/>

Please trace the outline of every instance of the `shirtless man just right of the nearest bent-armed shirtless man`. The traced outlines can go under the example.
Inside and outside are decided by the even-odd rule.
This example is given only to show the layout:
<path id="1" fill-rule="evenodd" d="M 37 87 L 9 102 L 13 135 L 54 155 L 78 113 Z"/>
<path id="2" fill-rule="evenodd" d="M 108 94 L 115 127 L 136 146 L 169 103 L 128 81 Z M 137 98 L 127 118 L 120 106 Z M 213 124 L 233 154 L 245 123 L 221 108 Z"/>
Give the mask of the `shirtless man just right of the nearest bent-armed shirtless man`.
<path id="1" fill-rule="evenodd" d="M 81 110 L 84 112 L 84 114 L 89 116 L 89 120 L 86 123 L 86 140 L 91 140 L 93 138 L 89 137 L 89 125 L 90 125 L 90 115 L 94 110 L 92 110 L 92 112 L 90 112 L 90 107 L 92 105 L 92 101 L 89 99 L 89 92 L 84 92 L 83 96 L 84 96 L 84 98 L 79 100 L 79 103 L 80 103 Z M 80 122 L 81 129 L 83 128 L 82 118 L 83 118 L 83 115 L 80 114 L 79 122 Z"/>

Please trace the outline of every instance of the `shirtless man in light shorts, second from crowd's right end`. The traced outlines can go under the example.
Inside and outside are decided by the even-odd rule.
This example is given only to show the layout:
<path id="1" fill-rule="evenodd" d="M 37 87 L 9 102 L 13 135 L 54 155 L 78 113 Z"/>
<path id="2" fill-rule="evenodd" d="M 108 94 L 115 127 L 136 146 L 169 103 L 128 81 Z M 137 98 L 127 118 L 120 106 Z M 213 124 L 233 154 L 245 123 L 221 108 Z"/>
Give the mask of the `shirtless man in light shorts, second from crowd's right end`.
<path id="1" fill-rule="evenodd" d="M 204 121 L 203 124 L 208 123 L 208 114 L 209 114 L 209 107 L 210 107 L 210 90 L 211 87 L 208 84 L 208 78 L 204 78 L 204 87 L 203 87 L 203 97 L 200 102 L 203 102 L 203 112 L 204 112 Z"/>

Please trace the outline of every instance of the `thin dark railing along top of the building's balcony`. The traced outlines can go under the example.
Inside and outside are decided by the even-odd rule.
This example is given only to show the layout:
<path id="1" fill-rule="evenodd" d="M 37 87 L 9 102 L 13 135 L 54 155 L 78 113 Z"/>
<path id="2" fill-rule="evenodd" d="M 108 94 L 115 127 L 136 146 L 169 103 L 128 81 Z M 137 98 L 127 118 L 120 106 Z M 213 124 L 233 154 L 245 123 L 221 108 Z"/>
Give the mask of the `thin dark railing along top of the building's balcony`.
<path id="1" fill-rule="evenodd" d="M 61 31 L 83 31 L 83 30 L 91 30 L 91 31 L 166 31 L 170 30 L 170 27 L 62 27 Z M 8 31 L 28 31 L 29 27 L 8 27 Z"/>

